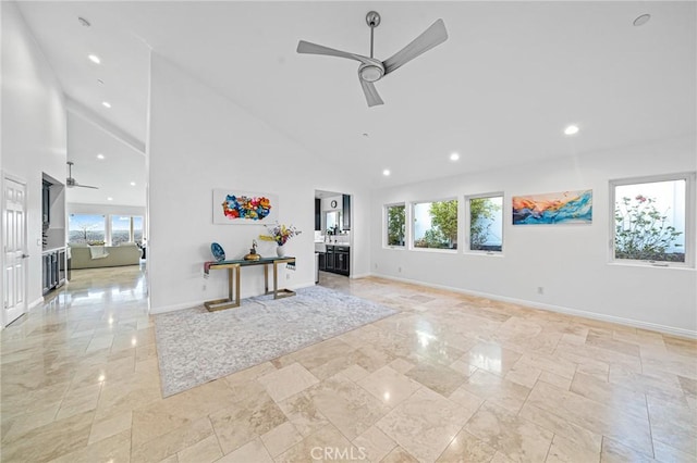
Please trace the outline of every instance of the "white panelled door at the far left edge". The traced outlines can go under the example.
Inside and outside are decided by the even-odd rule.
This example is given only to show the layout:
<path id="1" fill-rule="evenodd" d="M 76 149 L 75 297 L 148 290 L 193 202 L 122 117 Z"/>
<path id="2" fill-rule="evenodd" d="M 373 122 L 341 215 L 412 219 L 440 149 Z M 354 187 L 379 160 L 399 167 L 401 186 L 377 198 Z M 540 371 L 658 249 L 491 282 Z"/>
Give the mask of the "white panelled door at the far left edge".
<path id="1" fill-rule="evenodd" d="M 14 322 L 26 312 L 26 186 L 4 178 L 2 208 L 2 292 L 4 295 L 2 324 Z"/>

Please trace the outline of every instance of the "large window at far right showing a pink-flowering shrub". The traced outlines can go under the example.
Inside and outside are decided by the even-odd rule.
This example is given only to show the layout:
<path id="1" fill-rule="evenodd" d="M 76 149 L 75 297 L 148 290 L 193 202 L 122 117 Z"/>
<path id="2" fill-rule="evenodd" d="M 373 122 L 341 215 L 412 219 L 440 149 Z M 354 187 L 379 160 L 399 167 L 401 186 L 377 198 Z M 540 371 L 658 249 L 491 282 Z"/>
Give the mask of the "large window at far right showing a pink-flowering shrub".
<path id="1" fill-rule="evenodd" d="M 611 183 L 613 258 L 690 264 L 694 174 Z"/>

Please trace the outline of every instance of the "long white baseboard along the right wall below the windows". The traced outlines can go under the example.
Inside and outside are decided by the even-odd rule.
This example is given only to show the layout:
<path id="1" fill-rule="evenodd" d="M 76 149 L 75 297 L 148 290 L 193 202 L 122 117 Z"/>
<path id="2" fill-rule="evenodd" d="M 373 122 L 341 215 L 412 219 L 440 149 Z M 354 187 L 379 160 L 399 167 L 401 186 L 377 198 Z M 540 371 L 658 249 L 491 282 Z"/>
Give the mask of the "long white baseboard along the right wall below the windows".
<path id="1" fill-rule="evenodd" d="M 519 304 L 519 305 L 526 305 L 526 306 L 534 308 L 534 309 L 546 310 L 546 311 L 549 311 L 549 312 L 557 312 L 557 313 L 563 313 L 563 314 L 566 314 L 566 315 L 579 316 L 582 318 L 589 318 L 589 320 L 598 320 L 598 321 L 601 321 L 601 322 L 616 323 L 619 325 L 632 326 L 634 328 L 649 329 L 651 331 L 660 331 L 660 333 L 664 333 L 664 334 L 668 334 L 668 335 L 680 336 L 680 337 L 683 337 L 683 338 L 697 339 L 697 331 L 693 331 L 693 330 L 684 329 L 684 328 L 676 328 L 674 326 L 660 325 L 660 324 L 657 324 L 657 323 L 643 322 L 640 320 L 624 318 L 624 317 L 621 317 L 621 316 L 607 315 L 607 314 L 597 313 L 597 312 L 587 312 L 587 311 L 583 311 L 583 310 L 578 310 L 578 309 L 565 308 L 565 306 L 562 306 L 562 305 L 545 304 L 545 303 L 540 303 L 540 302 L 536 302 L 536 301 L 528 301 L 528 300 L 525 300 L 525 299 L 509 298 L 506 296 L 492 295 L 492 293 L 489 293 L 489 292 L 481 292 L 481 291 L 473 291 L 473 290 L 467 290 L 467 289 L 462 289 L 462 288 L 454 288 L 454 287 L 445 286 L 445 285 L 436 285 L 436 284 L 431 284 L 431 283 L 419 281 L 419 280 L 416 280 L 416 279 L 400 278 L 400 277 L 396 277 L 396 276 L 383 275 L 383 274 L 379 274 L 379 273 L 371 273 L 370 276 L 375 276 L 375 277 L 378 277 L 378 278 L 384 278 L 384 279 L 391 279 L 391 280 L 394 280 L 394 281 L 408 283 L 408 284 L 416 285 L 416 286 L 425 286 L 427 288 L 445 289 L 445 290 L 453 291 L 453 292 L 458 292 L 458 293 L 462 293 L 462 295 L 477 296 L 477 297 L 481 297 L 481 298 L 491 299 L 491 300 L 494 300 L 494 301 L 511 302 L 511 303 L 515 303 L 515 304 Z"/>

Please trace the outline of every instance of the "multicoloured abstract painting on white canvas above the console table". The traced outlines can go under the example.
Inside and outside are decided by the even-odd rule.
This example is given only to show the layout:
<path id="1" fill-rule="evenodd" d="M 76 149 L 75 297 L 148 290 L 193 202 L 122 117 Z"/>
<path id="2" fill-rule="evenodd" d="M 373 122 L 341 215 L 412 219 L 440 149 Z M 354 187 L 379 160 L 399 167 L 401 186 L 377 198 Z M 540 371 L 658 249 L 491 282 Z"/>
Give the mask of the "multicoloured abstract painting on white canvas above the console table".
<path id="1" fill-rule="evenodd" d="M 276 195 L 213 189 L 213 224 L 266 224 L 278 217 Z"/>

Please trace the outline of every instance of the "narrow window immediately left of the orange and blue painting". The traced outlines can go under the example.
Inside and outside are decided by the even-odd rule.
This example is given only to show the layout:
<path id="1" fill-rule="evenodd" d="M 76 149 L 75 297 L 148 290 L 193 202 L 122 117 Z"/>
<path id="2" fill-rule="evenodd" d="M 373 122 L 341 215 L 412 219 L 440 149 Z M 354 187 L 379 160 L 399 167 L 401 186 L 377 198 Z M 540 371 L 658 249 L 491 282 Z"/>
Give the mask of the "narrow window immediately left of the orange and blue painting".
<path id="1" fill-rule="evenodd" d="M 503 196 L 470 197 L 467 201 L 469 250 L 503 250 Z"/>

